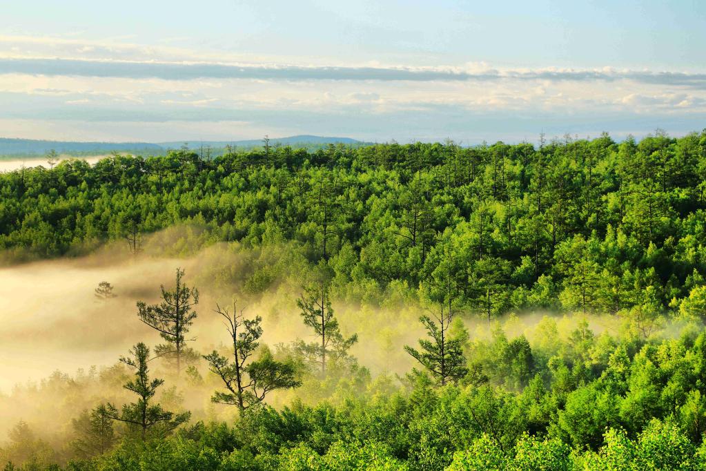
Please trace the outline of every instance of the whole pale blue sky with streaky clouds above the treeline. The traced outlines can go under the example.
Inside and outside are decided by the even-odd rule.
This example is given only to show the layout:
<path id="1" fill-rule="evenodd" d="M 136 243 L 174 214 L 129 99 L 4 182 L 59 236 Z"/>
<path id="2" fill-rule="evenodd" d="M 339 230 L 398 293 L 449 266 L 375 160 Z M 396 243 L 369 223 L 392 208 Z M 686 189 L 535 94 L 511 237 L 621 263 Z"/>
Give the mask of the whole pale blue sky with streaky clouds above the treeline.
<path id="1" fill-rule="evenodd" d="M 0 0 L 0 137 L 706 128 L 706 1 Z"/>

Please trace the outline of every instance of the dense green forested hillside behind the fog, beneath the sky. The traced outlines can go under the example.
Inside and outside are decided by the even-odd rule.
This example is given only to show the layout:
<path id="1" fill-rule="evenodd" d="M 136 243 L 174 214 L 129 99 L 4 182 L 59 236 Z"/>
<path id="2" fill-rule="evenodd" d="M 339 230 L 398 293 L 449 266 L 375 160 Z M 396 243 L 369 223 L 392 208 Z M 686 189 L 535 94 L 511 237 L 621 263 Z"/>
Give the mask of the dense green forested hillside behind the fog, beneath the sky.
<path id="1" fill-rule="evenodd" d="M 481 145 L 330 145 L 0 175 L 6 258 L 76 254 L 189 222 L 200 244 L 291 242 L 340 280 L 415 290 L 450 276 L 484 316 L 706 300 L 706 133 Z M 693 309 L 697 309 L 693 307 Z M 641 314 L 641 315 L 642 315 Z"/>

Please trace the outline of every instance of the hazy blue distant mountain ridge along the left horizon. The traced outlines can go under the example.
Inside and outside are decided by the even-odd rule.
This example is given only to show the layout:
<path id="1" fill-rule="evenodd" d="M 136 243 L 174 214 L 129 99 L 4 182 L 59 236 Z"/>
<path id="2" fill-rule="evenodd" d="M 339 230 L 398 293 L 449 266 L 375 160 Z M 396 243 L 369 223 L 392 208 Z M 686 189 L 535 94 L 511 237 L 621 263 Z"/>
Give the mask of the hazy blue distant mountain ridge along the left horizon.
<path id="1" fill-rule="evenodd" d="M 46 141 L 35 139 L 0 138 L 0 155 L 44 155 L 49 150 L 54 149 L 59 154 L 79 153 L 88 155 L 95 153 L 109 153 L 112 151 L 132 152 L 132 153 L 164 153 L 167 149 L 178 149 L 184 145 L 184 141 L 146 143 L 146 142 L 80 142 L 80 141 Z M 223 148 L 226 145 L 234 145 L 240 148 L 253 148 L 263 145 L 262 139 L 249 139 L 245 141 L 186 141 L 189 148 L 195 149 L 203 146 L 212 148 Z M 270 145 L 327 145 L 329 143 L 342 143 L 347 145 L 359 144 L 353 138 L 323 137 L 323 136 L 289 136 L 285 138 L 272 138 Z"/>

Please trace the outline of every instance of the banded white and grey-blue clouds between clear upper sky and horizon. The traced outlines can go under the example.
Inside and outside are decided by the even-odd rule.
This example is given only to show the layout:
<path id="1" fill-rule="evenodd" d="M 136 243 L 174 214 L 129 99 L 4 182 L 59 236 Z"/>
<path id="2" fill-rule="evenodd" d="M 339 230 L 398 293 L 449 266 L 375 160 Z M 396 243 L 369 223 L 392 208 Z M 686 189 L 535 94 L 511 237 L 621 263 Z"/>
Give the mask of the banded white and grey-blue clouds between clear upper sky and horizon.
<path id="1" fill-rule="evenodd" d="M 318 133 L 371 141 L 616 136 L 706 123 L 706 73 L 405 66 L 0 36 L 5 136 L 176 141 Z M 2 52 L 4 50 L 4 52 Z M 286 59 L 286 58 L 285 58 Z M 321 62 L 321 59 L 318 59 Z"/>

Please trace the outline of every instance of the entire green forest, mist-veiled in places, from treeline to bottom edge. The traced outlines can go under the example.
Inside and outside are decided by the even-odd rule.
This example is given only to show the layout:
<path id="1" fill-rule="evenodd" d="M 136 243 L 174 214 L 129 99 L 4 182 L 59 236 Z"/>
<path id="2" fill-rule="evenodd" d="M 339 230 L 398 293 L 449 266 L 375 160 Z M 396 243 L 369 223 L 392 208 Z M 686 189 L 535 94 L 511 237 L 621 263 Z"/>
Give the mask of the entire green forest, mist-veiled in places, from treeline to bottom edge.
<path id="1" fill-rule="evenodd" d="M 6 471 L 706 469 L 706 130 L 49 160 L 4 268 L 168 277 L 95 279 L 151 335 L 114 364 L 0 391 Z"/>

